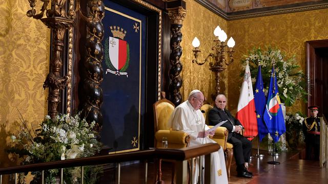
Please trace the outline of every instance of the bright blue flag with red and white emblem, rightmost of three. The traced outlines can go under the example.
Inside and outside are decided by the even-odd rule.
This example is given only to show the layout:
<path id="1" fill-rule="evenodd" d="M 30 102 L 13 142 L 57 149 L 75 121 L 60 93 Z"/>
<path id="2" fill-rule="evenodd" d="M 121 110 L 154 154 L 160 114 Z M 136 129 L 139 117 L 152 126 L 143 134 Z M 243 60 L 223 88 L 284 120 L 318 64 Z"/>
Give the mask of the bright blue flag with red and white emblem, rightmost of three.
<path id="1" fill-rule="evenodd" d="M 273 141 L 276 143 L 281 134 L 286 131 L 285 121 L 283 119 L 280 98 L 278 93 L 278 85 L 274 66 L 272 66 L 271 80 L 269 86 L 269 94 L 265 111 L 263 114 L 264 122 L 268 127 Z"/>

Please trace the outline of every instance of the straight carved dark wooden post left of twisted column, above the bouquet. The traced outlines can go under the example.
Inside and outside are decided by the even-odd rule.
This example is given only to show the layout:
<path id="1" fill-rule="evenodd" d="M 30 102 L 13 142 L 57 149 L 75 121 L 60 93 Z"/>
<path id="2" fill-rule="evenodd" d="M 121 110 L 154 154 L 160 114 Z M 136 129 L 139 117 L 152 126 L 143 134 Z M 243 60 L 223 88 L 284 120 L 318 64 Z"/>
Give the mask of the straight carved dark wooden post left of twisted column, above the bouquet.
<path id="1" fill-rule="evenodd" d="M 51 9 L 47 10 L 49 1 L 42 1 L 43 6 L 38 14 L 36 14 L 35 10 L 37 1 L 30 0 L 29 2 L 31 10 L 27 11 L 27 16 L 40 19 L 52 31 L 50 71 L 43 87 L 49 88 L 48 114 L 54 119 L 58 113 L 57 105 L 60 102 L 60 91 L 70 80 L 68 76 L 60 76 L 60 72 L 61 66 L 63 66 L 61 58 L 63 57 L 65 32 L 75 26 L 74 2 L 73 0 L 53 0 L 51 1 Z M 47 18 L 43 18 L 45 12 Z"/>

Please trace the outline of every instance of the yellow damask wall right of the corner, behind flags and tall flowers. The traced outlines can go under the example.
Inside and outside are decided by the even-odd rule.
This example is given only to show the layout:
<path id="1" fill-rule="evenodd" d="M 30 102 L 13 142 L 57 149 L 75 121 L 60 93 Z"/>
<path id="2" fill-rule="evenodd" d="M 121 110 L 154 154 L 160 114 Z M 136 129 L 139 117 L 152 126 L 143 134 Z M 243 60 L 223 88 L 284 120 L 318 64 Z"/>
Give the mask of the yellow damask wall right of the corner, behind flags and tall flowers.
<path id="1" fill-rule="evenodd" d="M 253 47 L 271 44 L 293 54 L 306 74 L 305 41 L 328 39 L 328 9 L 263 16 L 228 22 L 229 35 L 236 41 L 235 63 L 229 66 L 229 108 L 236 111 L 241 87 L 240 60 Z M 298 101 L 287 111 L 305 113 L 305 104 Z"/>

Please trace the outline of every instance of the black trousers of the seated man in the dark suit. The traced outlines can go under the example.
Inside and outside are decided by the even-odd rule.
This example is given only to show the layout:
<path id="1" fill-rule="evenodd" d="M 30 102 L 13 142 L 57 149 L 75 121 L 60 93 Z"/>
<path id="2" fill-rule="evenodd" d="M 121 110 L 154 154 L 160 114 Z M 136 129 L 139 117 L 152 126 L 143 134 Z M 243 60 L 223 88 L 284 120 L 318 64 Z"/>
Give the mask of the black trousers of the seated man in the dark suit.
<path id="1" fill-rule="evenodd" d="M 239 133 L 232 132 L 232 137 L 228 140 L 234 146 L 234 156 L 237 165 L 250 162 L 252 142 Z"/>

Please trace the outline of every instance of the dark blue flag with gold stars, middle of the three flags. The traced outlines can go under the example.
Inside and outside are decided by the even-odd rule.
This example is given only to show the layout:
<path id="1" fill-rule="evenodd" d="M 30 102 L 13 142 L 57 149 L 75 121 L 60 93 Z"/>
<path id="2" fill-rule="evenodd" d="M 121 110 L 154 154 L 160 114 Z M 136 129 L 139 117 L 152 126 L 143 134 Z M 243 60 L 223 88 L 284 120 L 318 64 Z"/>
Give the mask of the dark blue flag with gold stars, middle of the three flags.
<path id="1" fill-rule="evenodd" d="M 254 101 L 255 101 L 255 109 L 256 109 L 258 138 L 260 141 L 262 141 L 263 137 L 267 135 L 269 131 L 263 121 L 263 113 L 265 109 L 265 95 L 264 95 L 263 79 L 261 73 L 261 65 L 259 65 L 257 69 L 257 76 L 255 82 L 255 90 L 254 90 Z"/>

